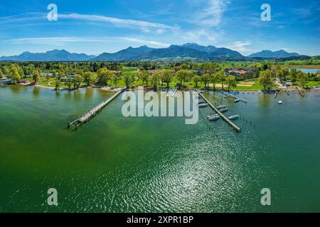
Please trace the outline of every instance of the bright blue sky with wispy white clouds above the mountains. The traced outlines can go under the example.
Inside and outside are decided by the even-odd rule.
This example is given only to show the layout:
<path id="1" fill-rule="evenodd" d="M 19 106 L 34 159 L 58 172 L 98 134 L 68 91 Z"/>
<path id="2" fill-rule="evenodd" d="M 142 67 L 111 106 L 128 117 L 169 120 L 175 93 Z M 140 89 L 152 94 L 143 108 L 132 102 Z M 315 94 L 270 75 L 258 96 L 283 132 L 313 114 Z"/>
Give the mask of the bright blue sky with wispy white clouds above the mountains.
<path id="1" fill-rule="evenodd" d="M 47 20 L 51 3 L 58 21 Z M 260 19 L 264 3 L 271 21 Z M 320 55 L 319 15 L 320 1 L 309 0 L 1 0 L 0 56 L 53 49 L 97 55 L 183 43 L 243 55 L 279 49 Z"/>

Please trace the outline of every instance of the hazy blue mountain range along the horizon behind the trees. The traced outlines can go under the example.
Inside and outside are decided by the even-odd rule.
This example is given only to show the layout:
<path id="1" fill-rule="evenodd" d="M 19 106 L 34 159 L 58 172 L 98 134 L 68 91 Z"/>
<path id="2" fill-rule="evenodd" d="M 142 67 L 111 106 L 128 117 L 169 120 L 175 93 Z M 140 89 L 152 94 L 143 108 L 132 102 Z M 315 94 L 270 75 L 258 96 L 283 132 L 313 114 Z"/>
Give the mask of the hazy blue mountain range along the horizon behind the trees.
<path id="1" fill-rule="evenodd" d="M 295 52 L 279 50 L 272 52 L 263 50 L 247 57 L 235 50 L 216 48 L 213 45 L 203 46 L 196 43 L 171 45 L 169 48 L 149 48 L 146 45 L 139 48 L 129 47 L 114 53 L 103 52 L 101 55 L 86 55 L 70 53 L 66 50 L 51 50 L 44 53 L 23 52 L 21 55 L 0 57 L 0 61 L 39 62 L 39 61 L 129 61 L 129 60 L 248 60 L 250 58 L 282 58 L 299 57 Z"/>

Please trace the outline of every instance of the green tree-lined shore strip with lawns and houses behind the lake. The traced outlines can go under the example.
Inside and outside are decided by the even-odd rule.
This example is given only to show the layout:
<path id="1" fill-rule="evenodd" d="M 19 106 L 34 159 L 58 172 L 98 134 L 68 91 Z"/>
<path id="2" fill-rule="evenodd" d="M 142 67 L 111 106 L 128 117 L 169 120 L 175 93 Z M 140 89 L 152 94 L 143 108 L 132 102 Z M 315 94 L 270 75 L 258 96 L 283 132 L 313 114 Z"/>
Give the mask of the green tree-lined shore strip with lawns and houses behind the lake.
<path id="1" fill-rule="evenodd" d="M 257 91 L 317 88 L 320 74 L 279 62 L 1 62 L 0 84 L 5 80 L 56 90 L 144 86 Z"/>

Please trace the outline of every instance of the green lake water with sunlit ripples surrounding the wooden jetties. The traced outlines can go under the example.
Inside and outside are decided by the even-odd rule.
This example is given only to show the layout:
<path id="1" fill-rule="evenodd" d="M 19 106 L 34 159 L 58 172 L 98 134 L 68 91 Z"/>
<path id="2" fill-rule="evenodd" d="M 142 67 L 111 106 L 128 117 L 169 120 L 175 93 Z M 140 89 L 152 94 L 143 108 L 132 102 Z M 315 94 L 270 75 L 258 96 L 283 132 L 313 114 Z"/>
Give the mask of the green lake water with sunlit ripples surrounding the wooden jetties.
<path id="1" fill-rule="evenodd" d="M 236 133 L 213 111 L 124 118 L 121 95 L 78 131 L 68 120 L 112 96 L 0 87 L 1 212 L 320 211 L 320 91 L 240 94 Z M 283 105 L 277 104 L 278 100 Z M 47 191 L 58 190 L 58 206 Z M 271 206 L 260 204 L 262 188 Z"/>

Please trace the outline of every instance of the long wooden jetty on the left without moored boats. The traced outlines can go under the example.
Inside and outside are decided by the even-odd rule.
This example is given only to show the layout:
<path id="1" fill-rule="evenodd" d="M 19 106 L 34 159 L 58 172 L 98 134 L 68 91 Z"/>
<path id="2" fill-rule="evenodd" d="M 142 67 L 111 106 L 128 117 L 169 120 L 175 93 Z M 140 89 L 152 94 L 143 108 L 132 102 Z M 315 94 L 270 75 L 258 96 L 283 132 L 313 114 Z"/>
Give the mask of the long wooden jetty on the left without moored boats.
<path id="1" fill-rule="evenodd" d="M 124 89 L 126 89 L 126 87 L 120 89 L 119 92 L 114 94 L 111 98 L 109 98 L 105 101 L 102 101 L 102 103 L 98 104 L 97 106 L 93 107 L 89 111 L 85 112 L 85 114 L 83 114 L 79 118 L 75 119 L 74 121 L 72 121 L 72 122 L 68 121 L 68 128 L 70 128 L 70 126 L 75 126 L 75 130 L 77 130 L 78 126 L 82 125 L 82 123 L 86 123 L 87 121 L 90 121 L 90 119 L 92 117 L 97 115 L 97 113 L 99 113 L 103 107 L 107 106 L 107 104 L 109 104 L 110 101 L 115 99 L 115 97 L 117 97 L 121 92 L 123 92 Z"/>

